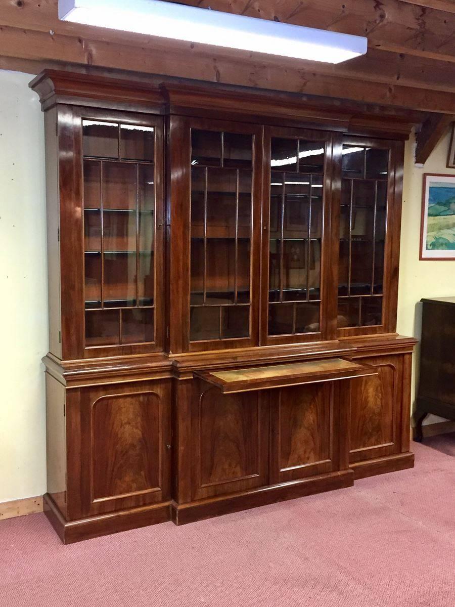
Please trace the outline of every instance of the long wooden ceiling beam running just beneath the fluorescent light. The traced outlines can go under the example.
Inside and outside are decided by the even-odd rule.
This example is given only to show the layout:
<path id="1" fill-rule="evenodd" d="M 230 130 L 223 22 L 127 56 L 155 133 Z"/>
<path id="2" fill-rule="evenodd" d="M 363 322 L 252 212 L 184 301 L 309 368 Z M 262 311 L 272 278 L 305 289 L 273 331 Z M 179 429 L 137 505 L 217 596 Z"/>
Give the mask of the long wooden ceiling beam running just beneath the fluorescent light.
<path id="1" fill-rule="evenodd" d="M 168 41 L 169 42 L 169 41 Z M 375 69 L 355 72 L 336 72 L 334 67 L 325 66 L 326 73 L 295 67 L 300 62 L 276 58 L 272 61 L 257 61 L 250 53 L 227 51 L 219 55 L 207 56 L 201 46 L 187 42 L 166 45 L 152 44 L 147 47 L 133 47 L 110 44 L 75 36 L 0 28 L 1 55 L 29 61 L 63 61 L 83 66 L 98 66 L 109 69 L 123 69 L 135 72 L 163 74 L 178 78 L 192 78 L 237 86 L 283 90 L 324 97 L 348 98 L 366 103 L 408 107 L 425 112 L 451 113 L 455 106 L 455 90 L 431 90 L 428 86 L 412 86 L 405 79 L 392 81 L 370 81 Z M 309 63 L 309 62 L 307 62 Z M 343 68 L 344 69 L 344 68 Z M 394 72 L 393 72 L 394 73 Z M 411 79 L 412 80 L 412 79 Z"/>

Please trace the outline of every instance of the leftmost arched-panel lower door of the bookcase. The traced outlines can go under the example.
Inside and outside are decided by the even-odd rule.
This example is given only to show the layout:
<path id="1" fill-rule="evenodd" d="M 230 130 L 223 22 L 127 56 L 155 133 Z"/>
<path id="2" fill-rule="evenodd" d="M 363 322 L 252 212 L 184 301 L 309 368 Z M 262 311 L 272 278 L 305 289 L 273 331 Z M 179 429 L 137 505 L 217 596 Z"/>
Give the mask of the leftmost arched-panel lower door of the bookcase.
<path id="1" fill-rule="evenodd" d="M 170 498 L 170 379 L 67 393 L 70 518 Z"/>

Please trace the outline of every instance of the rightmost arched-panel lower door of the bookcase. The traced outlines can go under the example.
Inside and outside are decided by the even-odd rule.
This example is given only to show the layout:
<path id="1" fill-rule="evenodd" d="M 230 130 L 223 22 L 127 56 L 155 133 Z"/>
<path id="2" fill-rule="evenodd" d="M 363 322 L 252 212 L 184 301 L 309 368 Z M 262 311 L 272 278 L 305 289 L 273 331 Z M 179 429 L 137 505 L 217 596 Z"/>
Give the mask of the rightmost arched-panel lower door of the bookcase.
<path id="1" fill-rule="evenodd" d="M 378 375 L 352 379 L 350 461 L 399 452 L 402 358 L 362 359 Z"/>

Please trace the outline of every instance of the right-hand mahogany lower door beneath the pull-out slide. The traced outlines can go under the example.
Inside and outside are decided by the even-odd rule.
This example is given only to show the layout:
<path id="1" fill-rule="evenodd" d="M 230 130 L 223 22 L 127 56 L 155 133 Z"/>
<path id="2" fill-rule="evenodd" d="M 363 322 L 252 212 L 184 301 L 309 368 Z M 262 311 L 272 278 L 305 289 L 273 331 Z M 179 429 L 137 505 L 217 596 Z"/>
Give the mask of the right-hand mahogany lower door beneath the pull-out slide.
<path id="1" fill-rule="evenodd" d="M 336 470 L 333 382 L 280 388 L 271 402 L 272 482 Z"/>

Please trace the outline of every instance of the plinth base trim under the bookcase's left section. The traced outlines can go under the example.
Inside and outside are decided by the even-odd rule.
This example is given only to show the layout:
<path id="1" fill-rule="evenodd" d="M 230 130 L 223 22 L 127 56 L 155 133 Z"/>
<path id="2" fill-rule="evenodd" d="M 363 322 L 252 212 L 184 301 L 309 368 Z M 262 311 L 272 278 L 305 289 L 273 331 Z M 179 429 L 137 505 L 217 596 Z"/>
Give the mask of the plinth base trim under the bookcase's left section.
<path id="1" fill-rule="evenodd" d="M 170 501 L 67 521 L 49 493 L 45 493 L 43 509 L 64 544 L 90 540 L 100 535 L 128 531 L 170 520 Z"/>

